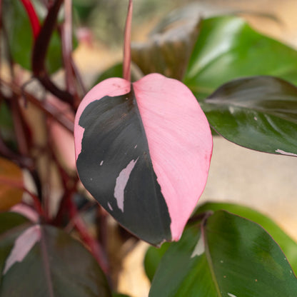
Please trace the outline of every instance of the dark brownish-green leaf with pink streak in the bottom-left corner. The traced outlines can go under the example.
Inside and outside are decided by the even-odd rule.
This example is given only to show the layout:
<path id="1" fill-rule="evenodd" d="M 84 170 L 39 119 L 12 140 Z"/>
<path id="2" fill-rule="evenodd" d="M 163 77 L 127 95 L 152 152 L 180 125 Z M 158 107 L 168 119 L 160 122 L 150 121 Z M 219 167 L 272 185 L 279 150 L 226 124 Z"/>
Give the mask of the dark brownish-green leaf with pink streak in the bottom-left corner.
<path id="1" fill-rule="evenodd" d="M 68 234 L 16 213 L 0 222 L 1 296 L 111 296 L 98 263 Z"/>

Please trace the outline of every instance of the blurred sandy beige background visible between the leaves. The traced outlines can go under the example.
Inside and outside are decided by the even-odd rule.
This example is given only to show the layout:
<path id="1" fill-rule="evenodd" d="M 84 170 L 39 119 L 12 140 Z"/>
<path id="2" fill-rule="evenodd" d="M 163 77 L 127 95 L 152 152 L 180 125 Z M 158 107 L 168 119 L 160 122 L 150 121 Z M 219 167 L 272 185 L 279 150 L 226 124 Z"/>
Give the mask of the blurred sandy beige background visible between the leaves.
<path id="1" fill-rule="evenodd" d="M 90 88 L 102 72 L 122 59 L 128 0 L 73 3 L 79 39 L 74 59 Z M 296 0 L 134 0 L 132 41 L 134 46 L 143 46 L 151 32 L 176 27 L 174 38 L 174 34 L 191 29 L 199 18 L 232 13 L 245 18 L 256 31 L 297 48 Z M 251 151 L 216 136 L 208 183 L 199 203 L 224 201 L 250 206 L 273 218 L 297 240 L 296 176 L 297 158 Z M 126 256 L 119 291 L 147 296 L 149 283 L 142 265 L 146 248 L 146 243 L 139 243 Z"/>

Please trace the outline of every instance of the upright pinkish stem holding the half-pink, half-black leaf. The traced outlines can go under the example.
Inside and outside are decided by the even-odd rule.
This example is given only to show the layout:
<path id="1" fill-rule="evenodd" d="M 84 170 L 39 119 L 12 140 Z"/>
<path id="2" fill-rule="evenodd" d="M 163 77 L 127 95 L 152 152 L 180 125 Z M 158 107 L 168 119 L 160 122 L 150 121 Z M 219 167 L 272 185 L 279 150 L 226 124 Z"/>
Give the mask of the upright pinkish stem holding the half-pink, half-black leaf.
<path id="1" fill-rule="evenodd" d="M 128 14 L 125 26 L 124 37 L 124 62 L 123 62 L 123 77 L 126 81 L 131 81 L 131 26 L 132 26 L 133 3 L 129 0 Z"/>

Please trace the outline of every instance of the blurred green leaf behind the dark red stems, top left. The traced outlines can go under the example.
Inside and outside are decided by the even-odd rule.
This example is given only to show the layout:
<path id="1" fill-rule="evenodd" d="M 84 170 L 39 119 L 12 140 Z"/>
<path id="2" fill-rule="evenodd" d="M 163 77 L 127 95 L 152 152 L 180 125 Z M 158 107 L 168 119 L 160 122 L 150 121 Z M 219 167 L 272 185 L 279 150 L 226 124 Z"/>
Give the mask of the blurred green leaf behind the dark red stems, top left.
<path id="1" fill-rule="evenodd" d="M 33 4 L 42 22 L 46 16 L 46 9 L 40 1 L 35 0 Z M 24 69 L 31 70 L 31 54 L 34 40 L 26 10 L 19 0 L 4 1 L 4 9 L 4 24 L 8 31 L 7 36 L 12 59 Z M 61 66 L 61 39 L 58 31 L 54 31 L 46 56 L 46 69 L 52 74 L 60 69 Z"/>

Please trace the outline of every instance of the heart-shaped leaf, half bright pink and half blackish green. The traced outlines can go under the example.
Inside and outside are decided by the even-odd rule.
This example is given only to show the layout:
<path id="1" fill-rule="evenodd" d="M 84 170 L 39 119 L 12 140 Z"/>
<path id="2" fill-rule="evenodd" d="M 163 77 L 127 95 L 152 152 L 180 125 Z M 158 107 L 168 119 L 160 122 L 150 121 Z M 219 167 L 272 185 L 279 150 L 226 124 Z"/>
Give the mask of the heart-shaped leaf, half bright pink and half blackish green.
<path id="1" fill-rule="evenodd" d="M 81 102 L 74 136 L 79 177 L 106 211 L 149 243 L 180 238 L 212 152 L 186 86 L 160 74 L 106 79 Z"/>

